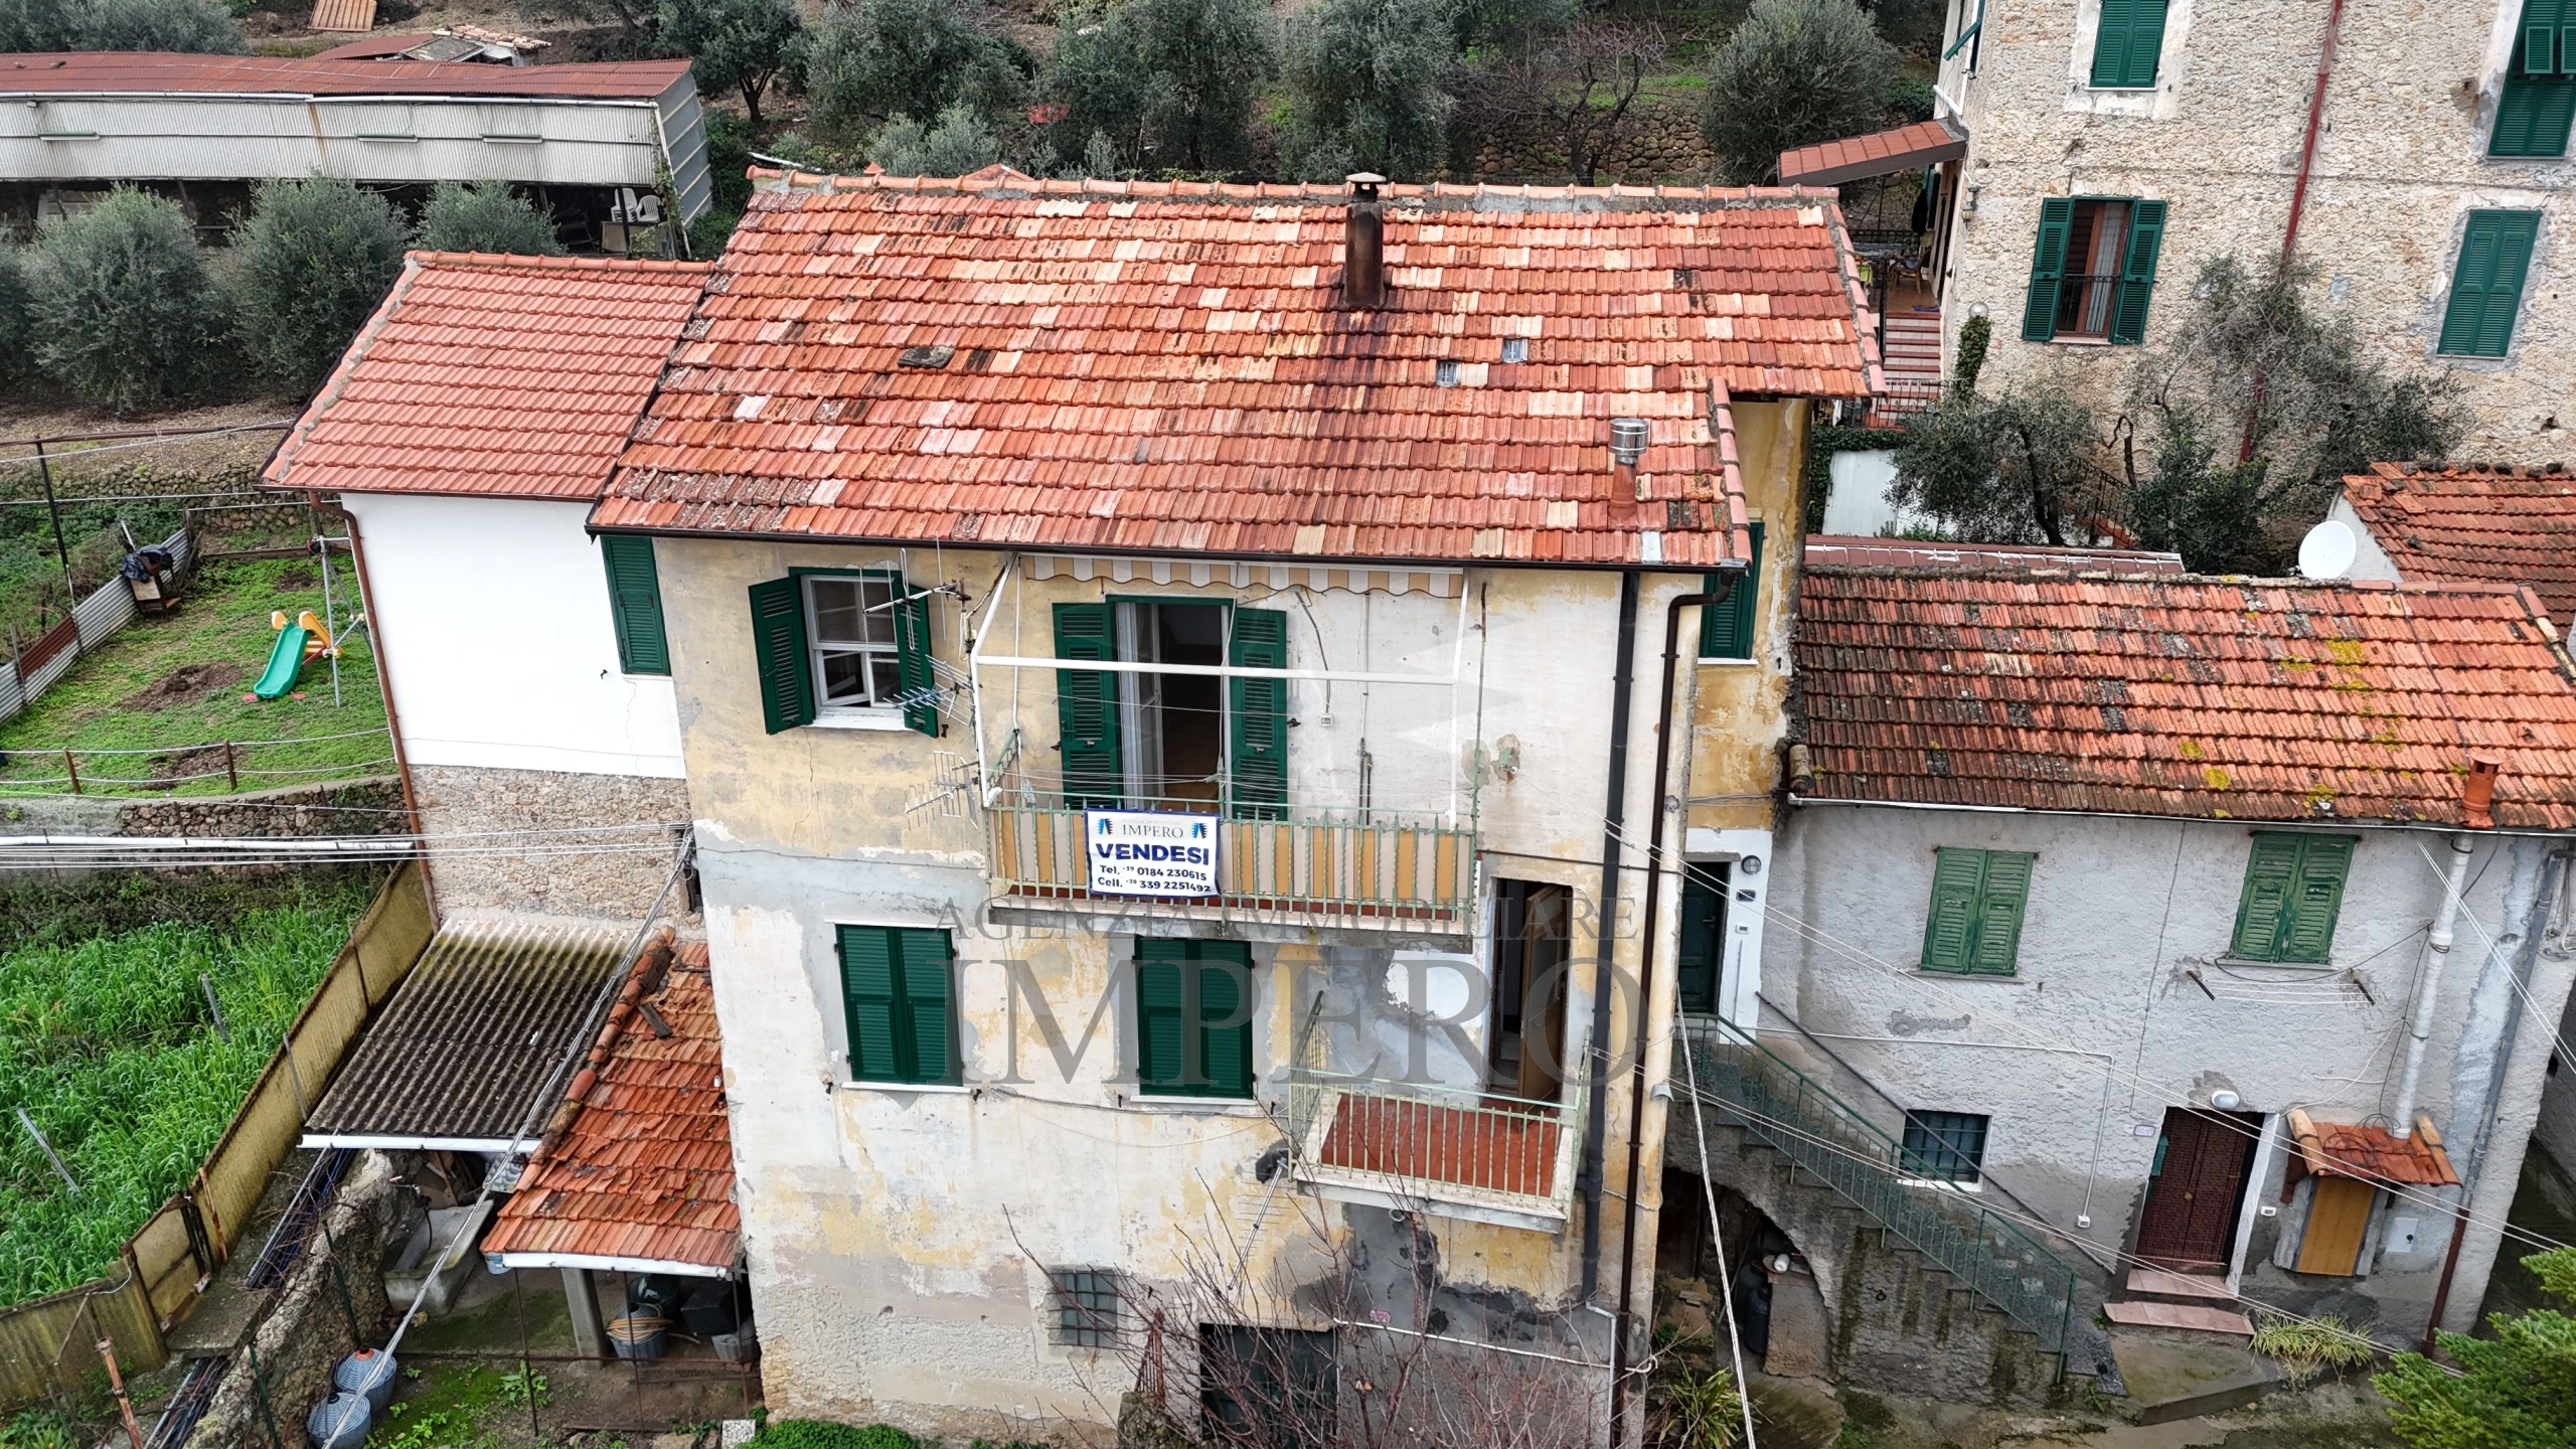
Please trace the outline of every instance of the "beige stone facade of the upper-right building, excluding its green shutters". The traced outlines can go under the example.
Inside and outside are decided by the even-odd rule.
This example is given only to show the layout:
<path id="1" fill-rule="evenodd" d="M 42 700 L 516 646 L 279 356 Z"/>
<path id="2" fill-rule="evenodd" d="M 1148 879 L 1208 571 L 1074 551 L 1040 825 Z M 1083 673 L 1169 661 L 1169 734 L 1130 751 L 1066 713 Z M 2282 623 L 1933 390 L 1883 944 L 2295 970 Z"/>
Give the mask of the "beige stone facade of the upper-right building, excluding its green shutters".
<path id="1" fill-rule="evenodd" d="M 2349 0 L 2326 93 L 2326 126 L 2298 255 L 2321 271 L 2313 302 L 2349 317 L 2365 351 L 2396 369 L 2460 379 L 2478 423 L 2463 456 L 2553 462 L 2566 451 L 2566 384 L 2553 358 L 2576 343 L 2561 196 L 2568 160 L 2488 157 L 2512 54 L 2517 0 L 2419 5 Z M 1950 39 L 1978 10 L 1953 15 Z M 1965 15 L 1965 18 L 1960 18 Z M 1965 106 L 1960 183 L 1942 304 L 1947 348 L 1973 307 L 1994 317 L 1989 379 L 2066 369 L 2120 387 L 2136 348 L 2020 340 L 2022 297 L 2045 196 L 2143 196 L 2172 204 L 2146 343 L 2190 309 L 2192 278 L 2218 255 L 2275 266 L 2290 219 L 2324 41 L 2321 5 L 2177 5 L 2151 93 L 2089 88 L 2099 5 L 1994 8 L 1971 49 L 1942 67 Z M 1947 46 L 1945 46 L 1947 49 Z M 2434 343 L 2470 209 L 2545 209 L 2506 358 L 2442 358 Z"/>

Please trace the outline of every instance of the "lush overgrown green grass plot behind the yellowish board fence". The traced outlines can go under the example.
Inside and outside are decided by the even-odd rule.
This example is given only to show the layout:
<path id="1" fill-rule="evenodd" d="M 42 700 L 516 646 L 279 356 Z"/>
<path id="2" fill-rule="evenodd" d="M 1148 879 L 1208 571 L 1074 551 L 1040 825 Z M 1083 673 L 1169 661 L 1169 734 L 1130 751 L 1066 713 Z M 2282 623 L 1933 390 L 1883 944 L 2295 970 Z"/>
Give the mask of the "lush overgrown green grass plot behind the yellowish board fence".
<path id="1" fill-rule="evenodd" d="M 0 954 L 0 1302 L 106 1274 L 188 1186 L 371 895 L 366 877 L 330 877 L 224 923 Z M 77 1196 L 18 1109 L 62 1155 Z"/>

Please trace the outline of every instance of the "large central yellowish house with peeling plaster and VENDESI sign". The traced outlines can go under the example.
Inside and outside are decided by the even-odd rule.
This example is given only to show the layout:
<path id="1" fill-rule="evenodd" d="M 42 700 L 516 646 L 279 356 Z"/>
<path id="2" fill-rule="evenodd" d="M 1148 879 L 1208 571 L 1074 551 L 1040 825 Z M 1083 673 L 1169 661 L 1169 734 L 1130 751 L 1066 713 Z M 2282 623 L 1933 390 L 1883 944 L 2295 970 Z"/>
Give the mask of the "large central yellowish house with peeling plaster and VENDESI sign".
<path id="1" fill-rule="evenodd" d="M 1847 255 L 1788 193 L 765 183 L 592 529 L 659 578 L 775 1413 L 1394 1413 L 1432 1354 L 1401 1413 L 1602 1431 L 1664 1031 L 1759 954 Z"/>

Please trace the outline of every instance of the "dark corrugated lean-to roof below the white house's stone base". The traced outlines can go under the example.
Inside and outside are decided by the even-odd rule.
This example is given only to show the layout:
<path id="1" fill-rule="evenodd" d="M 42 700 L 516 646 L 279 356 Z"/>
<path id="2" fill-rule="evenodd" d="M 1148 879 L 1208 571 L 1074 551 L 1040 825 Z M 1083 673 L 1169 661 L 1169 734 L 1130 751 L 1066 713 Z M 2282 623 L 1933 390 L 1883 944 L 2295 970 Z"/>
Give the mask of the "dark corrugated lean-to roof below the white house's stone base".
<path id="1" fill-rule="evenodd" d="M 515 1140 L 623 946 L 611 928 L 440 931 L 314 1106 L 304 1145 Z"/>

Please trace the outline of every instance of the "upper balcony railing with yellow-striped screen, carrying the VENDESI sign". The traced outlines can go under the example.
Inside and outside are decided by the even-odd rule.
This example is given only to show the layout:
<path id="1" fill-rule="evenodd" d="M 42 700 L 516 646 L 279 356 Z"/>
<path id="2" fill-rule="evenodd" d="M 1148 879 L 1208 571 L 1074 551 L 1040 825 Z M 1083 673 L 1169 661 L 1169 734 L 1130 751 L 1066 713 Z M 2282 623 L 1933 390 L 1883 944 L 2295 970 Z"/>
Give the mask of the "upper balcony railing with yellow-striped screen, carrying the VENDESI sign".
<path id="1" fill-rule="evenodd" d="M 1121 810 L 1218 815 L 1203 799 Z M 1476 820 L 1404 810 L 1265 804 L 1275 820 L 1216 822 L 1218 895 L 1097 897 L 1079 799 L 1005 789 L 987 807 L 994 895 L 1213 908 L 1236 915 L 1337 918 L 1342 926 L 1463 933 L 1476 902 Z"/>

